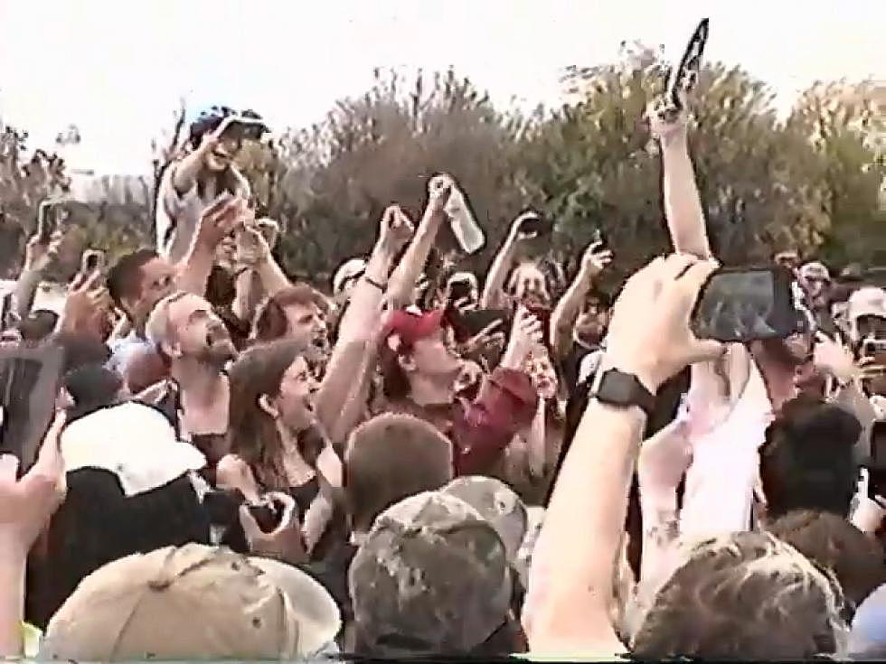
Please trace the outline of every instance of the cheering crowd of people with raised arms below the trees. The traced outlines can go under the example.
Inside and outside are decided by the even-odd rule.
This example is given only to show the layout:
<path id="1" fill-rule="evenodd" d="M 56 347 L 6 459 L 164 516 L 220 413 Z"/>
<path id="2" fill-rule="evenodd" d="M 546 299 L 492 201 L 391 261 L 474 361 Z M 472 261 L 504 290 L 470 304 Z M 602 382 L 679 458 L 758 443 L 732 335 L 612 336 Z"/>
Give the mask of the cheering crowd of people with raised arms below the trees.
<path id="1" fill-rule="evenodd" d="M 63 229 L 35 236 L 2 344 L 64 366 L 33 463 L 0 457 L 0 655 L 886 655 L 886 292 L 786 253 L 814 323 L 697 338 L 683 107 L 649 115 L 673 253 L 614 297 L 617 248 L 563 284 L 532 211 L 487 274 L 442 260 L 445 174 L 328 291 L 292 283 L 223 108 L 156 247 L 58 315 L 33 296 Z"/>

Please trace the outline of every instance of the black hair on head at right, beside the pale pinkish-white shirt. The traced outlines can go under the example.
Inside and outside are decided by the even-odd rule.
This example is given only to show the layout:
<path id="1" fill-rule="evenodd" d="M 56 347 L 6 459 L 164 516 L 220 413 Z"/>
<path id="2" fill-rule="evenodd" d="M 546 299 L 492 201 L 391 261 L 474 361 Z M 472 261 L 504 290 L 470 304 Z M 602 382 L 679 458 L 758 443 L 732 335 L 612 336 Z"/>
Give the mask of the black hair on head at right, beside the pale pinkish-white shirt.
<path id="1" fill-rule="evenodd" d="M 853 447 L 861 431 L 842 407 L 808 395 L 788 401 L 760 449 L 769 518 L 815 510 L 845 519 L 858 482 Z"/>

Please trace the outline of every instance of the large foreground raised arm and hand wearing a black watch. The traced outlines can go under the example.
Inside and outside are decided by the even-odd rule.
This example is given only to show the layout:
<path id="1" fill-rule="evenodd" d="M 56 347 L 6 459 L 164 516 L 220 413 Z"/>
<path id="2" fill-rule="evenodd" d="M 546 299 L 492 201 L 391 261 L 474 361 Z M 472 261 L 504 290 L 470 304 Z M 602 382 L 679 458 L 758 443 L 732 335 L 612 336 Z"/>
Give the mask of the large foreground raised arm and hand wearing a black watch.
<path id="1" fill-rule="evenodd" d="M 715 267 L 672 256 L 656 258 L 633 276 L 615 305 L 600 375 L 618 369 L 655 394 L 687 364 L 719 355 L 719 343 L 698 341 L 689 330 L 699 290 Z M 645 324 L 637 325 L 637 320 Z M 609 607 L 645 424 L 640 407 L 616 407 L 593 398 L 589 402 L 557 477 L 533 556 L 530 594 L 535 602 L 532 612 L 524 613 L 533 654 L 611 657 L 624 650 Z M 582 524 L 579 530 L 577 523 Z"/>

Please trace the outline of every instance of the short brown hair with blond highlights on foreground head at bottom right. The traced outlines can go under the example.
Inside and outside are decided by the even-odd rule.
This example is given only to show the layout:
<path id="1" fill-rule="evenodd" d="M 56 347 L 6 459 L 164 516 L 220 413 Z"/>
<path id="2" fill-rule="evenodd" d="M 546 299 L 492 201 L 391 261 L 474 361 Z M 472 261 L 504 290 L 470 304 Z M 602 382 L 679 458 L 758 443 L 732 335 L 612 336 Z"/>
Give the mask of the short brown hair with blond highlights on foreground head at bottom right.
<path id="1" fill-rule="evenodd" d="M 702 542 L 662 586 L 634 640 L 640 658 L 807 659 L 844 652 L 834 577 L 768 533 Z"/>

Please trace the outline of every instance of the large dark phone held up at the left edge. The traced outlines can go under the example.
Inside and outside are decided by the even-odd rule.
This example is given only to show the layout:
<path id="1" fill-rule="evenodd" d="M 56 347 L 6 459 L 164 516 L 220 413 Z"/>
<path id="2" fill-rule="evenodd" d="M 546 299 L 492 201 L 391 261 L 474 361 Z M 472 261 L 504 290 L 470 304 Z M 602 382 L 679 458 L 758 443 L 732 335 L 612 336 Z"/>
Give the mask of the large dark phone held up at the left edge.
<path id="1" fill-rule="evenodd" d="M 14 454 L 20 472 L 33 466 L 52 424 L 63 365 L 57 344 L 0 348 L 0 453 Z"/>

